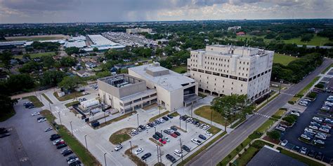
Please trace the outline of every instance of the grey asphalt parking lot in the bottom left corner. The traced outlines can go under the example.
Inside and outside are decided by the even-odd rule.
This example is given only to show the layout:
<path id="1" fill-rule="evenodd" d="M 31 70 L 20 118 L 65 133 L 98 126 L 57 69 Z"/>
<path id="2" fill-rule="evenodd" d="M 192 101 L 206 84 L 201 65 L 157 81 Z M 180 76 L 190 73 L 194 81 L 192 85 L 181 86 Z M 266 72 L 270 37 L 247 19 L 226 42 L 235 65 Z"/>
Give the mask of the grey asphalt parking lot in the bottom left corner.
<path id="1" fill-rule="evenodd" d="M 6 158 L 8 155 L 1 155 L 0 165 L 11 165 L 8 163 L 13 163 L 13 165 L 67 165 L 66 158 L 49 140 L 55 131 L 44 132 L 47 127 L 50 127 L 48 123 L 46 121 L 38 123 L 37 118 L 40 116 L 31 115 L 41 109 L 26 109 L 23 106 L 24 102 L 28 102 L 28 100 L 20 100 L 14 106 L 15 116 L 0 123 L 1 127 L 13 128 L 10 131 L 11 136 L 0 139 L 1 145 L 6 144 L 6 146 L 1 146 L 3 147 L 1 154 L 11 155 L 11 158 Z M 3 158 L 4 160 L 2 160 Z M 2 163 L 3 161 L 5 163 Z"/>

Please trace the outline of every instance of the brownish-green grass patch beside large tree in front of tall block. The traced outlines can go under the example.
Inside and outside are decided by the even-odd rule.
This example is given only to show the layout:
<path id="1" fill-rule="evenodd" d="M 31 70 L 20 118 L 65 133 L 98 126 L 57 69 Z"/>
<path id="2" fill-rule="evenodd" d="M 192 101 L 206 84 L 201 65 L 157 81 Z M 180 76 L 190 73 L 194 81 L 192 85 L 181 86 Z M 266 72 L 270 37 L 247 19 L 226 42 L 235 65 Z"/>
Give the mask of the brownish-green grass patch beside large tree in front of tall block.
<path id="1" fill-rule="evenodd" d="M 211 111 L 213 111 L 213 116 L 211 116 Z M 220 113 L 212 110 L 211 106 L 202 106 L 199 109 L 196 109 L 194 113 L 195 115 L 201 116 L 202 118 L 205 118 L 207 120 L 211 120 L 212 117 L 212 121 L 214 123 L 218 123 L 223 126 L 226 125 L 226 120 L 221 116 Z M 230 123 L 227 122 L 227 125 L 229 124 Z"/>

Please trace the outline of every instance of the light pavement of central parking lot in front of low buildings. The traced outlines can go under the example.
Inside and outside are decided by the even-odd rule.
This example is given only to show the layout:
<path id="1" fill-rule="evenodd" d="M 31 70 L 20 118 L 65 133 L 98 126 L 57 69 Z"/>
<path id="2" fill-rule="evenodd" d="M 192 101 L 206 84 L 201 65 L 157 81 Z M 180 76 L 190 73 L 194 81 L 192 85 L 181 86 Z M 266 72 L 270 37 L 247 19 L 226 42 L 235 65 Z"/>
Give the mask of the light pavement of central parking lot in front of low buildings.
<path id="1" fill-rule="evenodd" d="M 181 122 L 181 129 L 185 130 L 187 132 L 184 132 L 182 130 L 177 130 L 177 132 L 180 132 L 181 135 L 177 138 L 171 137 L 171 135 L 164 133 L 163 130 L 166 130 L 167 128 L 170 128 L 171 126 L 175 125 L 176 127 L 179 127 L 179 122 Z M 177 149 L 178 151 L 181 151 L 181 145 L 188 146 L 190 150 L 192 151 L 195 147 L 197 147 L 197 144 L 193 143 L 191 141 L 192 138 L 198 139 L 200 141 L 204 141 L 200 139 L 198 136 L 199 134 L 204 135 L 204 137 L 207 137 L 207 140 L 210 138 L 207 134 L 204 134 L 207 130 L 203 130 L 200 127 L 196 127 L 196 125 L 192 123 L 185 123 L 184 120 L 180 120 L 179 116 L 176 116 L 174 118 L 169 118 L 169 120 L 165 121 L 164 123 L 161 123 L 159 125 L 156 125 L 155 127 L 150 127 L 148 130 L 144 130 L 142 132 L 139 132 L 135 136 L 133 136 L 130 140 L 123 142 L 122 144 L 126 145 L 126 148 L 120 150 L 118 153 L 124 153 L 126 151 L 127 145 L 129 145 L 129 141 L 131 141 L 132 146 L 137 145 L 138 148 L 143 148 L 143 153 L 140 153 L 138 155 L 139 158 L 141 158 L 145 153 L 151 153 L 152 156 L 150 158 L 147 158 L 145 162 L 147 162 L 148 165 L 155 165 L 157 163 L 157 144 L 152 142 L 149 138 L 152 138 L 152 135 L 155 134 L 155 128 L 156 132 L 161 132 L 163 134 L 163 137 L 168 137 L 169 142 L 166 142 L 163 146 L 161 146 L 162 151 L 162 162 L 165 165 L 171 165 L 172 162 L 170 160 L 166 159 L 166 154 L 170 154 L 176 158 L 176 160 L 181 160 L 181 157 L 174 154 L 174 151 Z M 206 140 L 206 141 L 207 141 Z M 136 151 L 137 148 L 133 148 L 133 153 Z M 196 149 L 197 150 L 197 149 Z M 183 151 L 183 157 L 186 156 L 188 152 Z"/>

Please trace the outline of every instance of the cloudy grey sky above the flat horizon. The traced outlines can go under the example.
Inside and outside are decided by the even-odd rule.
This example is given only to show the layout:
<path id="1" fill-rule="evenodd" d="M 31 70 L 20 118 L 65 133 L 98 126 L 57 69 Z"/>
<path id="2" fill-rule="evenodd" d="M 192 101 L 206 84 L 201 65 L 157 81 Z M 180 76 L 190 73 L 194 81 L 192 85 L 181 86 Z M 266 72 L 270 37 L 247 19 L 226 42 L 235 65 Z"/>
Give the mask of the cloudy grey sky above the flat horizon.
<path id="1" fill-rule="evenodd" d="M 0 0 L 0 23 L 333 18 L 333 0 Z"/>

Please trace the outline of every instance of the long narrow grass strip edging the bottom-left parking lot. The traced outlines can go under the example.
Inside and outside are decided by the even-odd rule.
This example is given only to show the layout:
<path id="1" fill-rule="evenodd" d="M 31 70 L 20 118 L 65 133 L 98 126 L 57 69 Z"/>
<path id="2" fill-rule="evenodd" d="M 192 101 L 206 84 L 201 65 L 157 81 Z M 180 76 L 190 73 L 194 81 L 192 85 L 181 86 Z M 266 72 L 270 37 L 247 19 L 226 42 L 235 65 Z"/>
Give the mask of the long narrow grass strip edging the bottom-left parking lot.
<path id="1" fill-rule="evenodd" d="M 41 111 L 41 115 L 47 118 L 48 122 L 51 123 L 54 129 L 58 127 L 58 134 L 64 139 L 66 144 L 70 146 L 72 151 L 79 157 L 81 162 L 84 165 L 100 165 L 98 160 L 91 155 L 89 151 L 67 130 L 67 128 L 63 125 L 57 125 L 54 123 L 55 116 L 51 113 L 51 111 L 43 110 Z M 54 125 L 55 124 L 55 125 Z M 55 127 L 56 126 L 56 127 Z"/>

